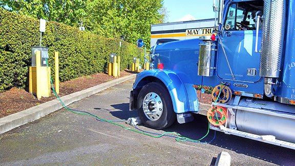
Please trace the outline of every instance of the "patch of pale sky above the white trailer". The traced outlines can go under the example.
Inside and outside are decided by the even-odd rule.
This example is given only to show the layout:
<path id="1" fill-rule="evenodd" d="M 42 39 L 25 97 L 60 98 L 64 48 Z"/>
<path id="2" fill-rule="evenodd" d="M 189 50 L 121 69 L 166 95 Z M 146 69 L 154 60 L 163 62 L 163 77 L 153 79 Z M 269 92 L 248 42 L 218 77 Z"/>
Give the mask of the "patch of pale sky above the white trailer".
<path id="1" fill-rule="evenodd" d="M 180 22 L 214 18 L 213 1 L 208 0 L 164 0 L 167 9 L 167 22 Z"/>

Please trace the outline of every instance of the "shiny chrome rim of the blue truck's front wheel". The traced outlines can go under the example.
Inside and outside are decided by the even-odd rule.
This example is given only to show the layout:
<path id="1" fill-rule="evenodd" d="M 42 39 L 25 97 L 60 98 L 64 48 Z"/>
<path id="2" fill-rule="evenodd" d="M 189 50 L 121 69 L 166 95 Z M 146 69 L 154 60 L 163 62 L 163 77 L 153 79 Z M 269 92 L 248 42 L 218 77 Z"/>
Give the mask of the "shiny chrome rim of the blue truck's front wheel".
<path id="1" fill-rule="evenodd" d="M 147 93 L 143 98 L 142 108 L 144 115 L 150 120 L 158 120 L 163 113 L 161 97 L 154 92 Z"/>

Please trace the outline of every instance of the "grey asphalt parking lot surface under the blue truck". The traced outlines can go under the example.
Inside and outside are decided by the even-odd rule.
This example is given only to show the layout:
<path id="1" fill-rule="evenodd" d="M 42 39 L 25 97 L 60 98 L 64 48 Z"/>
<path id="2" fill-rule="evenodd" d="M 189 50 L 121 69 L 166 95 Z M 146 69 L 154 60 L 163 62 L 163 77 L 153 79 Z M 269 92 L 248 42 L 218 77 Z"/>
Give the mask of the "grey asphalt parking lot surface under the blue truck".
<path id="1" fill-rule="evenodd" d="M 137 116 L 129 111 L 129 91 L 134 80 L 76 101 L 71 109 L 87 111 L 107 120 Z M 116 122 L 135 129 L 125 122 Z M 177 132 L 199 139 L 208 130 L 206 117 L 173 124 L 164 130 L 144 126 L 141 130 Z M 137 129 L 135 129 L 137 130 Z M 0 135 L 0 165 L 214 165 L 222 151 L 231 165 L 295 165 L 295 151 L 210 130 L 202 140 L 210 143 L 176 141 L 173 137 L 153 138 L 93 116 L 60 109 L 43 118 Z"/>

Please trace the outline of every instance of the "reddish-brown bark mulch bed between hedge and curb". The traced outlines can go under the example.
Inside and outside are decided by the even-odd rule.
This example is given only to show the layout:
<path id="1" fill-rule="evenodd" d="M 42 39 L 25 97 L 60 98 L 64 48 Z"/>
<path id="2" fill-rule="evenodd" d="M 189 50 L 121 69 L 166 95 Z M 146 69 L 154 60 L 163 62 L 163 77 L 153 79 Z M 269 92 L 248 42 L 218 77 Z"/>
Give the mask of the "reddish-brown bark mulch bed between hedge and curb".
<path id="1" fill-rule="evenodd" d="M 120 77 L 135 74 L 129 70 L 120 72 Z M 102 84 L 107 81 L 114 80 L 118 77 L 113 77 L 107 73 L 97 73 L 88 76 L 81 76 L 59 84 L 59 97 L 65 96 L 74 92 L 85 90 Z M 55 99 L 55 95 L 51 90 L 51 97 L 42 97 L 37 100 L 36 96 L 29 93 L 28 89 L 12 88 L 8 91 L 0 93 L 0 118 L 11 115 L 13 113 L 29 109 L 40 105 L 41 103 Z"/>

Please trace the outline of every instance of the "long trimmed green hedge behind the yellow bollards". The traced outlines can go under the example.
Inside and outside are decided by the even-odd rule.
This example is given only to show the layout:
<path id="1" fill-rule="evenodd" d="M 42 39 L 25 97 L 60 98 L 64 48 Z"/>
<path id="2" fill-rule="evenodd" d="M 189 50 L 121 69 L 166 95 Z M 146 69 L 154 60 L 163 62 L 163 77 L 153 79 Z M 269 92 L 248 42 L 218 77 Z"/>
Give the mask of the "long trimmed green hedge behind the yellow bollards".
<path id="1" fill-rule="evenodd" d="M 54 73 L 54 51 L 59 52 L 60 81 L 107 71 L 110 53 L 120 55 L 120 70 L 131 65 L 134 56 L 140 55 L 143 62 L 143 49 L 125 41 L 120 48 L 120 41 L 56 22 L 47 22 L 42 35 L 42 46 L 49 47 L 51 73 Z M 28 86 L 31 48 L 39 43 L 38 19 L 0 9 L 0 92 Z"/>

